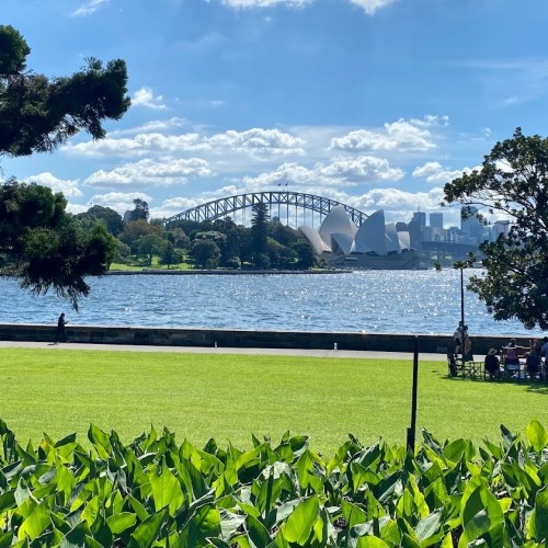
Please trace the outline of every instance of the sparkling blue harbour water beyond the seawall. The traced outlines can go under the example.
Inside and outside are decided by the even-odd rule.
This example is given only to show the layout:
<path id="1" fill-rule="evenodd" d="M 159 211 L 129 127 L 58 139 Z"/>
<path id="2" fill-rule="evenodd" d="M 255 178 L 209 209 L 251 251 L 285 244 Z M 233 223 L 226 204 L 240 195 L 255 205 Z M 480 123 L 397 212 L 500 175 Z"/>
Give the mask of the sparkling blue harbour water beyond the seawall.
<path id="1" fill-rule="evenodd" d="M 465 271 L 466 277 L 470 271 Z M 478 273 L 478 272 L 476 272 Z M 110 275 L 90 278 L 78 312 L 55 294 L 34 296 L 0 278 L 0 323 L 453 333 L 460 319 L 460 273 L 361 271 L 331 275 Z M 518 322 L 495 322 L 465 293 L 470 333 L 538 336 Z"/>

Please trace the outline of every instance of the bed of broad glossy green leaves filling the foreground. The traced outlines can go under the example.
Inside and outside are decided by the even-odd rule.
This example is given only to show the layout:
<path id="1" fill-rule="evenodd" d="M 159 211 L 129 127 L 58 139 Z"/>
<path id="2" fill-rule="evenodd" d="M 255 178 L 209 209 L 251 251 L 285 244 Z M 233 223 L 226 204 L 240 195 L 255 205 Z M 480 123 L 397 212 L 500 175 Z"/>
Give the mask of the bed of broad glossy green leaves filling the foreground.
<path id="1" fill-rule="evenodd" d="M 289 433 L 201 449 L 153 427 L 34 449 L 0 420 L 0 548 L 545 546 L 548 433 L 501 433 L 477 447 L 424 432 L 415 455 L 351 435 L 323 460 Z"/>

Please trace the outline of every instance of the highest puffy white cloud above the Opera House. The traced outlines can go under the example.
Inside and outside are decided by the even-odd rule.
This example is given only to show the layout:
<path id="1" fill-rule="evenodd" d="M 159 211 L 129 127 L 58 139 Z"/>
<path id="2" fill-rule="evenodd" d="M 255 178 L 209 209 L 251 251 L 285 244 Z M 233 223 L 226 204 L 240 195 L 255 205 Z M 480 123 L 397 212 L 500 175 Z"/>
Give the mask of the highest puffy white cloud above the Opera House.
<path id="1" fill-rule="evenodd" d="M 425 121 L 400 118 L 398 122 L 385 124 L 383 132 L 357 129 L 343 137 L 331 139 L 331 148 L 339 150 L 429 150 L 435 148 L 433 135 L 426 127 L 436 118 Z"/>

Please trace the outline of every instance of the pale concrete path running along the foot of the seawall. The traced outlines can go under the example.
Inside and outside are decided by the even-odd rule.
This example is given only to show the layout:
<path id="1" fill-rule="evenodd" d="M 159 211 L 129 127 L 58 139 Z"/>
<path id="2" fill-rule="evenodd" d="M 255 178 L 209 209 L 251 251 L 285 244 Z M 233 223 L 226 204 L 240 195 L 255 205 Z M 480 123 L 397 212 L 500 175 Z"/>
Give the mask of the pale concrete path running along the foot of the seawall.
<path id="1" fill-rule="evenodd" d="M 187 354 L 267 354 L 276 356 L 313 356 L 338 358 L 375 358 L 375 359 L 413 359 L 412 352 L 376 352 L 350 350 L 310 350 L 310 349 L 233 349 L 233 347 L 206 347 L 206 346 L 151 346 L 130 344 L 89 344 L 89 343 L 60 343 L 47 342 L 19 342 L 0 341 L 0 349 L 48 349 L 62 350 L 91 350 L 91 351 L 124 351 L 124 352 L 184 352 Z M 420 362 L 445 362 L 445 354 L 420 354 Z"/>

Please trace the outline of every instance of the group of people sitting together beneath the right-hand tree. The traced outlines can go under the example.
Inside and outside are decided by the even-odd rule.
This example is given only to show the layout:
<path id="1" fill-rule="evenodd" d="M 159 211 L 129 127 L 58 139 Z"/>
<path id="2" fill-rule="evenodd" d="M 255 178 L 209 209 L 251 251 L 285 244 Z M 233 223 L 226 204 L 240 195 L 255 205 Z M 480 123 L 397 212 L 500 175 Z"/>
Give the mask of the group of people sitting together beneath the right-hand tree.
<path id="1" fill-rule="evenodd" d="M 501 359 L 495 349 L 490 349 L 483 362 L 486 372 L 492 378 L 500 373 Z M 511 339 L 509 344 L 502 349 L 501 357 L 504 358 L 504 367 L 509 372 L 520 370 L 520 357 L 525 358 L 525 370 L 529 377 L 535 377 L 543 373 L 543 358 L 545 369 L 548 366 L 548 336 L 545 336 L 543 343 L 536 339 L 529 340 L 529 346 L 517 346 L 515 339 Z"/>

